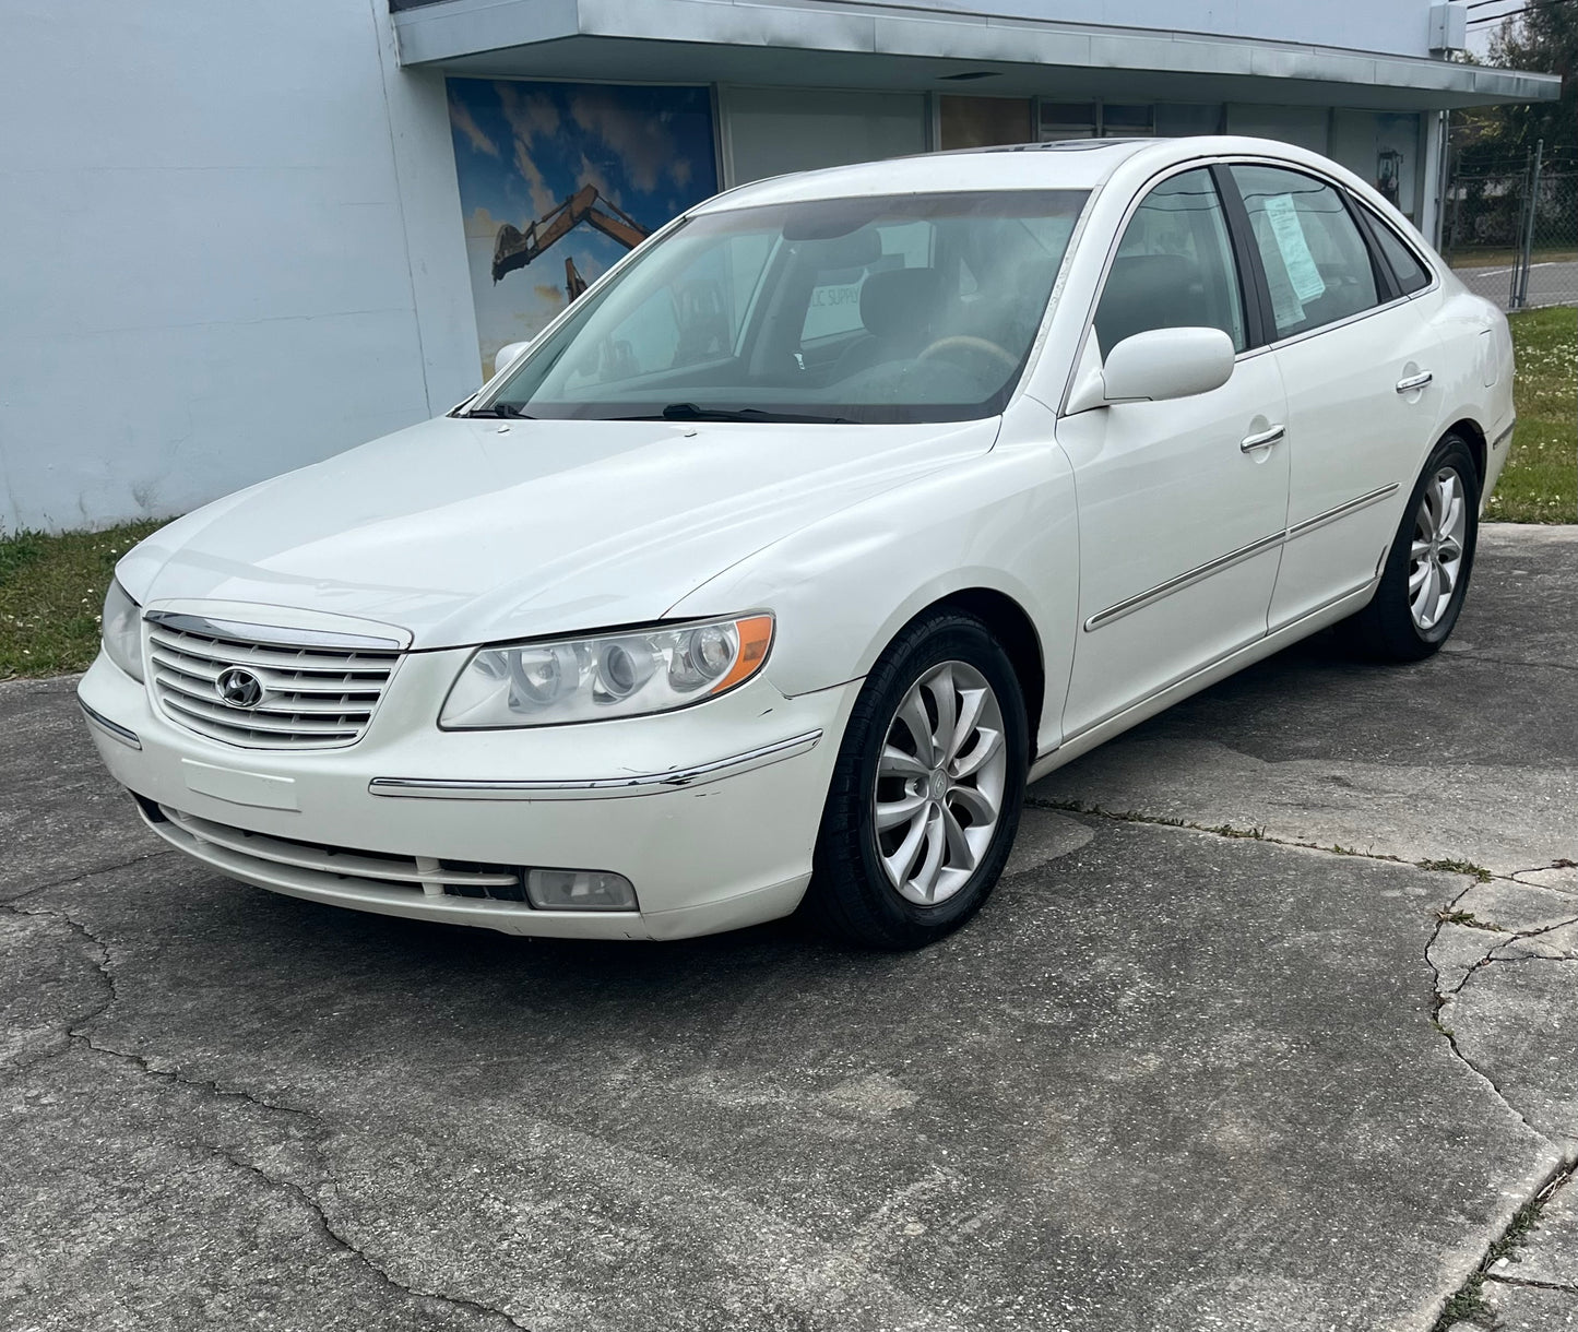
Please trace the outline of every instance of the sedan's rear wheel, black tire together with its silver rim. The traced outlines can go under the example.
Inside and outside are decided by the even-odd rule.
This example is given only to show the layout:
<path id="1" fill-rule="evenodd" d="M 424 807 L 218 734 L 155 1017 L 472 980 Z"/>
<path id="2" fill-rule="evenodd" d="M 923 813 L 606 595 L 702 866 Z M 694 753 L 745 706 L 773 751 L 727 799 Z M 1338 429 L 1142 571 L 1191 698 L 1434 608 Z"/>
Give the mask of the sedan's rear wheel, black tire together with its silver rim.
<path id="1" fill-rule="evenodd" d="M 1422 661 L 1452 636 L 1474 571 L 1479 494 L 1479 469 L 1468 443 L 1460 436 L 1444 436 L 1403 510 L 1376 595 L 1343 625 L 1344 638 L 1362 655 L 1378 661 Z M 1445 521 L 1439 518 L 1444 497 Z M 1447 557 L 1452 549 L 1456 560 Z M 1423 584 L 1415 587 L 1419 579 Z"/>

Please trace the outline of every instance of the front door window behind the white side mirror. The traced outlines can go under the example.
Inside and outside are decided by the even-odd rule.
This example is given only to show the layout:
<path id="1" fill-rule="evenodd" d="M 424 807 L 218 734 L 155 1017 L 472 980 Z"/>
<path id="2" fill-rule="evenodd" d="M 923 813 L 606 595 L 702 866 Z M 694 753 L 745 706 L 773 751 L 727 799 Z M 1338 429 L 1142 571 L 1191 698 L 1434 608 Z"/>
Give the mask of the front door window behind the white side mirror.
<path id="1" fill-rule="evenodd" d="M 1234 350 L 1247 346 L 1239 273 L 1209 170 L 1161 181 L 1117 243 L 1095 309 L 1101 355 L 1152 328 L 1221 328 Z"/>

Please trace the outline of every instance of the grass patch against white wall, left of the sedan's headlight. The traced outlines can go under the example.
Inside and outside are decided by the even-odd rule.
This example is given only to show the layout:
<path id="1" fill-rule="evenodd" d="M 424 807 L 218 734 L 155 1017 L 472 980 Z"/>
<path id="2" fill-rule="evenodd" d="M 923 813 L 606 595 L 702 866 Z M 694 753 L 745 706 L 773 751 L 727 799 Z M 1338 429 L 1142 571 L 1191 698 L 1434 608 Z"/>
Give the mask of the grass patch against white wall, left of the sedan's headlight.
<path id="1" fill-rule="evenodd" d="M 159 526 L 0 537 L 0 680 L 85 671 L 115 560 Z"/>

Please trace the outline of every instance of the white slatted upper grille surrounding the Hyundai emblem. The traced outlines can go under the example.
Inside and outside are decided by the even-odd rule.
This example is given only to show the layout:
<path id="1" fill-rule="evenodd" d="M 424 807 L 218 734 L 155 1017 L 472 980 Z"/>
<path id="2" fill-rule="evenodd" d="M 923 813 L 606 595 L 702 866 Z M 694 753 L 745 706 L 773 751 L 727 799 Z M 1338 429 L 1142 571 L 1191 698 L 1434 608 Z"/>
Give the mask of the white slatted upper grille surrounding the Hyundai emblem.
<path id="1" fill-rule="evenodd" d="M 205 622 L 199 622 L 205 623 Z M 148 622 L 153 696 L 172 721 L 227 745 L 254 750 L 320 750 L 353 745 L 372 720 L 399 650 L 295 645 L 270 631 L 259 642 Z M 254 707 L 235 707 L 219 694 L 219 677 L 234 666 L 264 687 Z"/>

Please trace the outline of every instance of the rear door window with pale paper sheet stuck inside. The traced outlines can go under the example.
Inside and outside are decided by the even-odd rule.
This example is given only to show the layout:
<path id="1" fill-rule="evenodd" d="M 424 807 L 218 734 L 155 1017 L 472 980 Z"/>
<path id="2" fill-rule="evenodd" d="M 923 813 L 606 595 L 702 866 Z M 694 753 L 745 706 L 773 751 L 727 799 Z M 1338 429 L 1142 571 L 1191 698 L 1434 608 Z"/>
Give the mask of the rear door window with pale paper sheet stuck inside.
<path id="1" fill-rule="evenodd" d="M 1236 166 L 1232 178 L 1250 213 L 1278 338 L 1378 305 L 1370 249 L 1337 189 L 1281 167 Z"/>

